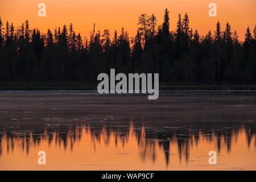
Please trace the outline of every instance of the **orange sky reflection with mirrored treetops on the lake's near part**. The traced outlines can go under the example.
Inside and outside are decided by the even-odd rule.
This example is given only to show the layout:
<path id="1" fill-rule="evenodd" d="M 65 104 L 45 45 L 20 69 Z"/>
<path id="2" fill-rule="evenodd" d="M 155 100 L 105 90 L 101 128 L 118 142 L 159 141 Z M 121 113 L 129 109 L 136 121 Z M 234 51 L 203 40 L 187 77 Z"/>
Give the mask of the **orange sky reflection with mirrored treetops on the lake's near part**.
<path id="1" fill-rule="evenodd" d="M 233 170 L 256 169 L 256 139 L 250 128 L 221 134 L 174 134 L 166 140 L 147 137 L 144 127 L 135 131 L 93 131 L 89 125 L 25 137 L 3 134 L 0 169 L 14 170 Z M 46 165 L 39 165 L 38 151 L 46 151 Z M 217 152 L 217 165 L 208 164 L 208 152 Z"/>

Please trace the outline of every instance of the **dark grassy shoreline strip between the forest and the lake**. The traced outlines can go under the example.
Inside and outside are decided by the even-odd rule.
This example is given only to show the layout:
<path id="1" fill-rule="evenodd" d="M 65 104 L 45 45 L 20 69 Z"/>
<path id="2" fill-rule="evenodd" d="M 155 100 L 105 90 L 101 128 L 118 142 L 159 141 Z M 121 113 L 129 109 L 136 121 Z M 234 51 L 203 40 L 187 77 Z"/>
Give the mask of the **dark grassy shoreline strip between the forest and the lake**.
<path id="1" fill-rule="evenodd" d="M 97 90 L 97 83 L 0 83 L 0 90 Z M 256 90 L 256 84 L 174 84 L 160 83 L 159 90 Z"/>

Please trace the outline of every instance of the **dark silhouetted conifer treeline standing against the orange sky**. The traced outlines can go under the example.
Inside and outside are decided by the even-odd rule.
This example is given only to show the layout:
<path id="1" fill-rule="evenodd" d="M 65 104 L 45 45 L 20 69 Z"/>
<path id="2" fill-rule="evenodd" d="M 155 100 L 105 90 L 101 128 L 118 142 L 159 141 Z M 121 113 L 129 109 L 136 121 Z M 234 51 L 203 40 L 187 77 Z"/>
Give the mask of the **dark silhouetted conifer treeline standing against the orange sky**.
<path id="1" fill-rule="evenodd" d="M 89 39 L 73 30 L 72 23 L 42 34 L 0 19 L 0 82 L 96 82 L 98 73 L 115 68 L 122 73 L 159 73 L 162 82 L 256 82 L 256 26 L 238 40 L 229 23 L 207 35 L 189 26 L 188 14 L 179 14 L 170 30 L 166 9 L 163 23 L 156 16 L 138 18 L 135 38 L 127 31 L 95 30 Z"/>

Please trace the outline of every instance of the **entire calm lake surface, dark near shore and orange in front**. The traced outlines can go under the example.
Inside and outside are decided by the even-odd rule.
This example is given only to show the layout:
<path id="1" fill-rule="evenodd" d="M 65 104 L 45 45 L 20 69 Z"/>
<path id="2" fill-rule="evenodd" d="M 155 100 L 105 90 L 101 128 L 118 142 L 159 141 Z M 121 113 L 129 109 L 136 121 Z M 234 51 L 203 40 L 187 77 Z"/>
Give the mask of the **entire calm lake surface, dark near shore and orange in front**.
<path id="1" fill-rule="evenodd" d="M 0 92 L 0 169 L 256 170 L 256 92 Z"/>

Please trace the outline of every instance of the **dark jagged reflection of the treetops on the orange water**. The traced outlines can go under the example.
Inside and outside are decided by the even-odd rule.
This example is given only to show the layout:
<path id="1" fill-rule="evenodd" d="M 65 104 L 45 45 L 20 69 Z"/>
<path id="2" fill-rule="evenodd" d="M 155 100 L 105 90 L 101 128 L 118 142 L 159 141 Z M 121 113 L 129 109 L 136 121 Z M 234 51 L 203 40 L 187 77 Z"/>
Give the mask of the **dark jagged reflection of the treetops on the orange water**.
<path id="1" fill-rule="evenodd" d="M 185 158 L 186 161 L 189 159 L 189 151 L 193 146 L 197 146 L 200 140 L 206 140 L 208 143 L 216 141 L 217 150 L 220 153 L 221 141 L 224 140 L 226 150 L 230 152 L 232 146 L 232 140 L 237 141 L 238 134 L 243 132 L 246 135 L 247 146 L 250 147 L 253 137 L 255 137 L 256 130 L 253 123 L 242 123 L 233 124 L 232 127 L 227 127 L 221 123 L 216 127 L 215 124 L 203 125 L 201 127 L 186 126 L 186 127 L 164 127 L 164 130 L 156 131 L 157 129 L 150 129 L 142 127 L 135 127 L 131 123 L 129 130 L 122 129 L 119 127 L 90 127 L 89 125 L 82 125 L 73 127 L 70 125 L 65 129 L 58 131 L 52 131 L 51 129 L 45 129 L 41 133 L 28 133 L 22 132 L 5 132 L 0 137 L 0 156 L 2 156 L 3 148 L 6 147 L 7 154 L 10 151 L 14 151 L 15 147 L 22 148 L 26 154 L 29 153 L 30 146 L 40 146 L 41 142 L 47 142 L 48 146 L 52 143 L 57 147 L 64 147 L 64 150 L 73 150 L 76 142 L 82 142 L 81 138 L 83 135 L 87 136 L 92 144 L 94 150 L 96 150 L 96 144 L 104 143 L 108 146 L 110 142 L 114 142 L 115 147 L 118 143 L 121 143 L 124 147 L 130 140 L 136 140 L 139 156 L 142 160 L 147 158 L 152 160 L 154 163 L 156 156 L 158 155 L 156 148 L 160 148 L 161 152 L 164 152 L 166 164 L 168 166 L 170 160 L 170 146 L 176 144 L 179 159 Z M 256 147 L 256 139 L 254 140 L 254 146 Z M 69 143 L 69 145 L 68 145 Z M 69 146 L 69 148 L 68 148 Z"/>

